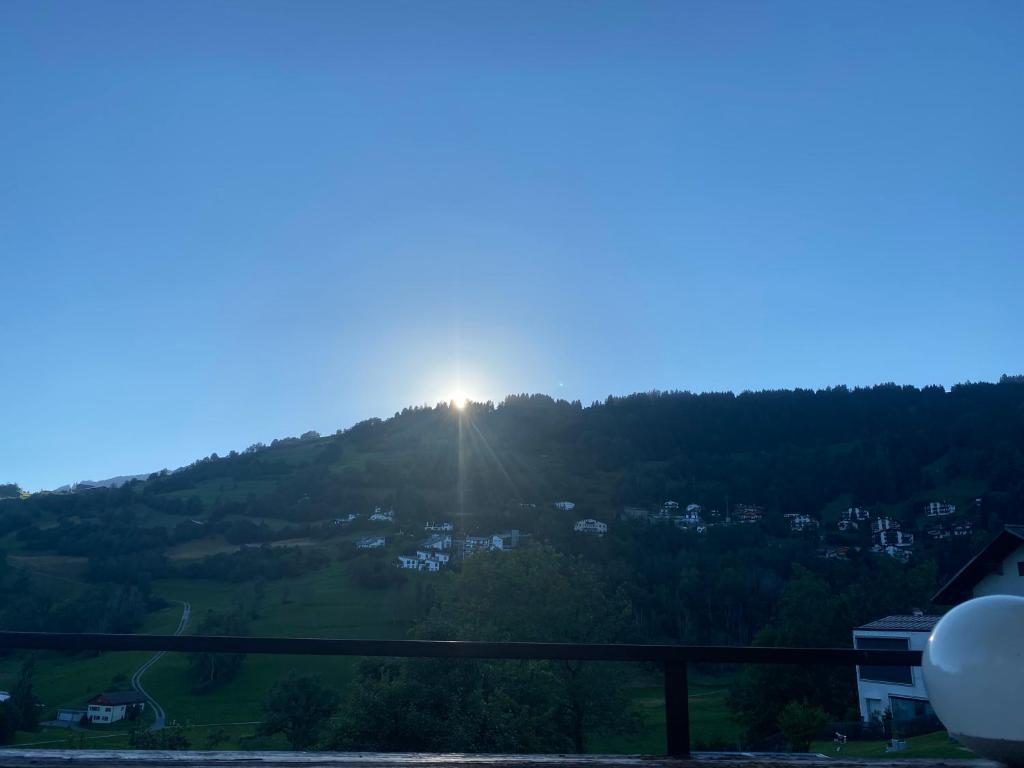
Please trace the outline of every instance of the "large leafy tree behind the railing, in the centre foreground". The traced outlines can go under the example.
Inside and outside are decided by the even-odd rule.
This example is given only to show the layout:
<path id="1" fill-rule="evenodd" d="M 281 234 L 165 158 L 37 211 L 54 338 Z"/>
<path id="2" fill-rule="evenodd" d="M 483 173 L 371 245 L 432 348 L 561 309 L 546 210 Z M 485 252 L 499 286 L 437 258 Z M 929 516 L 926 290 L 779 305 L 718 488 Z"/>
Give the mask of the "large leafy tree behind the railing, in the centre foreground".
<path id="1" fill-rule="evenodd" d="M 496 606 L 500 608 L 496 609 Z M 441 588 L 415 630 L 424 639 L 611 642 L 629 604 L 592 566 L 550 547 L 485 553 Z M 607 665 L 366 662 L 333 749 L 584 752 L 594 732 L 634 718 Z M 444 680 L 444 685 L 437 685 Z"/>

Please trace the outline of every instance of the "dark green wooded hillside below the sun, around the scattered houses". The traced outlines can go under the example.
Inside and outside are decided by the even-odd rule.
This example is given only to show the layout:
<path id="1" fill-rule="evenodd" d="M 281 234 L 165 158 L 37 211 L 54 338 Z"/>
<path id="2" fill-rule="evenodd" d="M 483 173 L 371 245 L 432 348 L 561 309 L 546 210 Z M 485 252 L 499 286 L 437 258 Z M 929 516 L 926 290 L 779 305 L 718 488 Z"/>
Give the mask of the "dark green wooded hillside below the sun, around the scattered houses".
<path id="1" fill-rule="evenodd" d="M 187 602 L 191 633 L 422 634 L 443 596 L 465 589 L 463 563 L 437 574 L 393 563 L 416 549 L 424 523 L 444 520 L 457 539 L 516 528 L 522 549 L 546 545 L 593 568 L 628 614 L 611 639 L 773 642 L 791 621 L 780 600 L 803 589 L 820 590 L 829 610 L 804 623 L 797 643 L 847 644 L 854 622 L 929 607 L 975 549 L 1024 519 L 1024 385 L 651 393 L 586 408 L 514 396 L 465 410 L 411 409 L 331 436 L 211 456 L 116 489 L 6 496 L 0 620 L 8 629 L 166 633 Z M 707 527 L 623 519 L 625 507 L 653 512 L 669 500 L 699 505 Z M 574 509 L 556 509 L 557 501 Z M 970 531 L 932 539 L 923 509 L 934 501 L 955 505 L 946 522 Z M 762 518 L 726 524 L 737 505 L 757 505 Z M 907 561 L 872 552 L 866 527 L 840 531 L 851 506 L 912 532 Z M 378 507 L 393 510 L 394 521 L 370 521 Z M 815 525 L 792 530 L 786 514 L 809 515 Z M 355 518 L 341 522 L 348 515 Z M 608 536 L 574 534 L 584 517 L 609 524 Z M 386 536 L 386 547 L 357 550 L 355 541 L 371 534 Z M 835 551 L 842 555 L 824 557 Z M 478 621 L 461 626 L 483 626 L 503 604 L 505 596 L 480 602 Z M 127 687 L 146 657 L 39 654 L 40 712 L 52 717 L 59 706 Z M 0 688 L 14 687 L 22 660 L 0 659 Z M 368 680 L 345 658 L 249 656 L 206 683 L 195 665 L 169 654 L 143 682 L 169 722 L 195 726 L 196 742 L 231 724 L 223 726 L 229 743 L 283 745 L 280 737 L 239 739 L 256 731 L 268 691 L 291 671 L 339 691 Z M 659 743 L 656 674 L 638 669 L 624 680 L 638 730 L 603 734 L 595 726 L 588 749 Z M 838 680 L 820 702 L 837 718 L 849 710 L 850 682 Z M 691 702 L 694 738 L 739 743 L 757 735 L 742 707 L 729 705 L 730 689 L 745 684 L 718 671 L 691 691 L 700 694 Z M 45 741 L 47 733 L 16 738 Z M 92 734 L 90 743 L 126 738 L 112 733 L 122 735 Z"/>

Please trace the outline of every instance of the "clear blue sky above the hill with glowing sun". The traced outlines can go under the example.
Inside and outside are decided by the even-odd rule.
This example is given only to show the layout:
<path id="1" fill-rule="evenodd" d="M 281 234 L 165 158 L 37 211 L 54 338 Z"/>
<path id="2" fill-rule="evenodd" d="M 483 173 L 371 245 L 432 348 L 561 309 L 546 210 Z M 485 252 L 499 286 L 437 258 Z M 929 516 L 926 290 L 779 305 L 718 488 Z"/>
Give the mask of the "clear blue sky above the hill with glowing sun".
<path id="1" fill-rule="evenodd" d="M 1022 36 L 1018 2 L 0 4 L 0 482 L 460 386 L 1019 372 Z"/>

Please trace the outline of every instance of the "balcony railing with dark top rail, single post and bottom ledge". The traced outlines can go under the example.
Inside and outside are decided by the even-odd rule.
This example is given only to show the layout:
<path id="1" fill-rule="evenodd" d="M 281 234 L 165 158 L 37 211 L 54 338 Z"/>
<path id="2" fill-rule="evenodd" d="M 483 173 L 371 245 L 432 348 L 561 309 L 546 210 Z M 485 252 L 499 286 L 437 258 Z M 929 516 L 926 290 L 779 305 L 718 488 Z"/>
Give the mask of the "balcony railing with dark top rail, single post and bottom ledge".
<path id="1" fill-rule="evenodd" d="M 342 640 L 325 638 L 221 637 L 204 635 L 98 635 L 0 632 L 0 649 L 59 651 L 176 651 L 216 653 L 268 653 L 288 655 L 348 655 L 429 657 L 447 659 L 536 659 L 582 662 L 642 662 L 657 665 L 664 674 L 666 710 L 665 756 L 566 756 L 566 755 L 438 755 L 354 754 L 295 752 L 140 752 L 140 751 L 47 751 L 0 750 L 3 766 L 48 766 L 81 763 L 90 766 L 119 765 L 313 765 L 313 766 L 679 766 L 713 762 L 722 766 L 771 762 L 775 765 L 843 765 L 857 763 L 815 755 L 690 752 L 687 670 L 693 664 L 780 664 L 853 667 L 913 667 L 921 652 L 913 650 L 866 650 L 852 648 L 772 648 L 734 646 L 679 646 L 567 643 L 492 643 L 427 640 Z M 880 764 L 879 761 L 871 761 Z M 882 765 L 923 763 L 978 766 L 977 761 L 885 761 Z"/>

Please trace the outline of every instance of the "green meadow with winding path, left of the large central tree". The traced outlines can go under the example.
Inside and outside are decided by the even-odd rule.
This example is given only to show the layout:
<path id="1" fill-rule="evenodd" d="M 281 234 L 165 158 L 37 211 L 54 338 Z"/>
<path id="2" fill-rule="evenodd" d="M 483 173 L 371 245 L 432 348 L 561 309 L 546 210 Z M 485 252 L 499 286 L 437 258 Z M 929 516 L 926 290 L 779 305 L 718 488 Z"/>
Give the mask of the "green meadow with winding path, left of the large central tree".
<path id="1" fill-rule="evenodd" d="M 271 582 L 258 599 L 254 598 L 254 588 L 249 584 L 199 580 L 155 582 L 154 593 L 173 602 L 170 607 L 147 616 L 141 629 L 147 634 L 173 632 L 181 615 L 179 601 L 187 601 L 193 610 L 187 629 L 190 634 L 198 631 L 208 610 L 229 611 L 239 605 L 255 605 L 249 627 L 251 634 L 401 638 L 413 616 L 415 581 L 398 589 L 360 589 L 348 581 L 344 564 L 335 562 L 302 577 Z M 126 687 L 131 673 L 150 655 L 122 652 L 83 658 L 81 655 L 38 654 L 35 689 L 46 707 L 44 718 L 52 716 L 57 707 L 81 705 L 101 690 Z M 315 675 L 322 682 L 344 689 L 351 679 L 355 662 L 345 657 L 249 656 L 237 679 L 212 693 L 200 695 L 191 690 L 186 673 L 187 658 L 183 654 L 169 653 L 146 673 L 143 684 L 164 706 L 169 723 L 252 722 L 260 718 L 260 708 L 270 686 L 290 671 Z M 19 656 L 0 663 L 0 688 L 9 690 L 13 686 L 19 664 Z M 252 729 L 248 726 L 247 732 Z M 59 731 L 57 735 L 67 737 L 67 733 Z M 18 740 L 45 739 L 37 733 L 24 734 Z M 108 741 L 105 738 L 96 740 Z"/>

